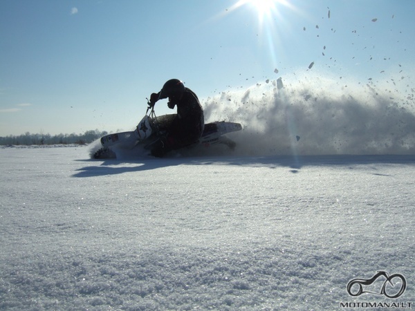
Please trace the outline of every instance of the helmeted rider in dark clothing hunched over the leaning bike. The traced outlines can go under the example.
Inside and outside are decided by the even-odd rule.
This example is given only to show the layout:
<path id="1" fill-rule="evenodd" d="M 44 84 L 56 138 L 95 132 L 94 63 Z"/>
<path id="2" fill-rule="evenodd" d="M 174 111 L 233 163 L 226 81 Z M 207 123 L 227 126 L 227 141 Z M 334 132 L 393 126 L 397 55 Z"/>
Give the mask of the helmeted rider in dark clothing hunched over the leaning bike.
<path id="1" fill-rule="evenodd" d="M 167 133 L 149 146 L 151 155 L 156 157 L 163 157 L 171 150 L 197 142 L 205 126 L 203 109 L 197 95 L 190 88 L 186 88 L 181 80 L 169 79 L 160 92 L 152 93 L 150 106 L 153 107 L 158 100 L 167 97 L 167 106 L 169 109 L 177 106 L 177 114 Z"/>

